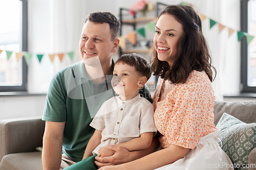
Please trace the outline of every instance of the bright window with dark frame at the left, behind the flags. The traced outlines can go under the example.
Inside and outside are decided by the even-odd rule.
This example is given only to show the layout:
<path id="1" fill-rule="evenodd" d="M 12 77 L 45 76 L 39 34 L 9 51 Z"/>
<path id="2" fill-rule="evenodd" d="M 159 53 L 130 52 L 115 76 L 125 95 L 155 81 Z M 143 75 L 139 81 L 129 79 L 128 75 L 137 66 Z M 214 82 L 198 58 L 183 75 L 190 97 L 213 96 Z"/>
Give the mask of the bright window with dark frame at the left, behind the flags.
<path id="1" fill-rule="evenodd" d="M 27 0 L 0 1 L 0 92 L 26 91 L 27 64 L 15 53 L 27 51 L 27 16 Z M 9 59 L 6 51 L 13 52 Z"/>

